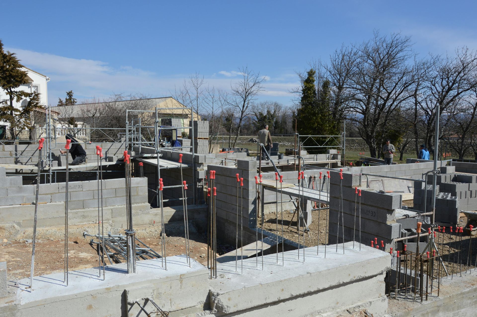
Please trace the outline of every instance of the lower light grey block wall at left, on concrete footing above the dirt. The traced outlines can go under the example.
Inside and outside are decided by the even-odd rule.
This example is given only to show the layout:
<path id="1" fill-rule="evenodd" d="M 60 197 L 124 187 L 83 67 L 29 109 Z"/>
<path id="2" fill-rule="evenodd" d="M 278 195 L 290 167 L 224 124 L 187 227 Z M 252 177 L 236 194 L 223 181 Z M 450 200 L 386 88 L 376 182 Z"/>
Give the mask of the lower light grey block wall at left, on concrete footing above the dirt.
<path id="1" fill-rule="evenodd" d="M 0 206 L 20 205 L 35 201 L 36 185 L 22 185 L 21 176 L 3 176 L 5 168 L 0 167 Z M 147 179 L 132 178 L 133 204 L 147 203 Z M 126 203 L 124 178 L 103 181 L 103 205 L 116 206 Z M 65 201 L 65 183 L 40 184 L 38 202 L 52 203 Z M 69 182 L 68 195 L 70 209 L 97 207 L 97 181 Z"/>

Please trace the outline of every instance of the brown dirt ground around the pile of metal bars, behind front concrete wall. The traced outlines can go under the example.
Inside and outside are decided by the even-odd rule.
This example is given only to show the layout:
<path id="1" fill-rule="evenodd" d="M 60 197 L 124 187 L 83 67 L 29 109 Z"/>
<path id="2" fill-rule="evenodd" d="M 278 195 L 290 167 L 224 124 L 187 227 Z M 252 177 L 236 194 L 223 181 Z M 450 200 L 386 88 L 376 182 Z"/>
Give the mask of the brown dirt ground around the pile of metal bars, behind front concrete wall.
<path id="1" fill-rule="evenodd" d="M 157 226 L 156 226 L 157 228 Z M 146 245 L 161 254 L 160 232 L 156 230 L 139 228 L 137 237 Z M 178 226 L 173 236 L 166 237 L 166 255 L 182 255 L 186 253 L 186 244 L 183 226 Z M 190 256 L 198 262 L 207 259 L 207 236 L 197 232 L 193 225 L 189 225 Z M 166 227 L 166 232 L 167 227 Z M 122 233 L 124 234 L 124 232 Z M 177 234 L 177 235 L 176 235 Z M 87 267 L 98 266 L 98 254 L 95 246 L 89 244 L 91 237 L 83 238 L 82 235 L 71 236 L 68 241 L 69 270 L 79 270 Z M 1 243 L 1 242 L 0 242 Z M 18 280 L 30 276 L 31 266 L 31 240 L 22 239 L 0 245 L 0 262 L 7 262 L 7 274 L 10 280 Z M 231 251 L 229 245 L 218 245 L 218 255 Z M 62 272 L 64 267 L 64 240 L 62 239 L 37 239 L 35 246 L 35 271 L 34 275 L 45 275 L 53 272 Z M 109 262 L 106 259 L 106 265 Z"/>

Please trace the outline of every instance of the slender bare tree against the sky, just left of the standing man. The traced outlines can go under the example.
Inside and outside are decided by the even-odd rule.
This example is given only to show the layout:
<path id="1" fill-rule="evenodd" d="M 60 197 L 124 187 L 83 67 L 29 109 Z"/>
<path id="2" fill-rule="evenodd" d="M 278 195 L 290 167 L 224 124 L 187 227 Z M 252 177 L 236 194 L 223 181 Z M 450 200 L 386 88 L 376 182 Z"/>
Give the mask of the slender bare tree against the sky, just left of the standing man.
<path id="1" fill-rule="evenodd" d="M 242 67 L 239 71 L 242 74 L 242 79 L 230 85 L 231 98 L 228 101 L 228 104 L 233 107 L 237 113 L 236 117 L 238 119 L 235 138 L 231 147 L 235 147 L 237 139 L 239 138 L 242 122 L 251 114 L 252 106 L 257 101 L 257 95 L 263 91 L 263 83 L 266 81 L 264 76 L 260 76 L 260 73 L 249 70 L 248 67 Z"/>

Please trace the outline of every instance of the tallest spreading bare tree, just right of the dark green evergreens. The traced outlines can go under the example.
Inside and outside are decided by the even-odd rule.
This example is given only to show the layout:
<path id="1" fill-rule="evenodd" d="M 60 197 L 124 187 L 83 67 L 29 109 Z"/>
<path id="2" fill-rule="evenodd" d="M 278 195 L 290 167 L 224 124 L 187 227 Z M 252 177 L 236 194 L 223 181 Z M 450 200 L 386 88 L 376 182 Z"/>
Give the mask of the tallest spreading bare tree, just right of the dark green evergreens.
<path id="1" fill-rule="evenodd" d="M 409 37 L 374 33 L 372 40 L 355 45 L 358 57 L 354 63 L 351 89 L 351 118 L 369 147 L 372 157 L 381 155 L 380 148 L 394 127 L 393 114 L 412 98 L 415 76 L 407 62 L 414 56 Z"/>

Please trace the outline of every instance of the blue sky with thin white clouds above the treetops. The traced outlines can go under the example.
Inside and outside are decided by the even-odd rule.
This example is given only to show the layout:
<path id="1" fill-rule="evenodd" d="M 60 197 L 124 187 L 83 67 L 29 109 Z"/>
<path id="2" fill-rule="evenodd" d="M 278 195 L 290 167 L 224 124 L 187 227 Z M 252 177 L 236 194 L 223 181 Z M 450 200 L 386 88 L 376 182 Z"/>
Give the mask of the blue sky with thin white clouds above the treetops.
<path id="1" fill-rule="evenodd" d="M 21 3 L 21 6 L 19 5 Z M 5 1 L 0 39 L 51 78 L 48 100 L 171 95 L 194 72 L 228 89 L 267 76 L 260 100 L 291 105 L 295 71 L 342 43 L 401 32 L 420 56 L 477 49 L 475 1 Z M 14 27 L 8 28 L 12 25 Z"/>

